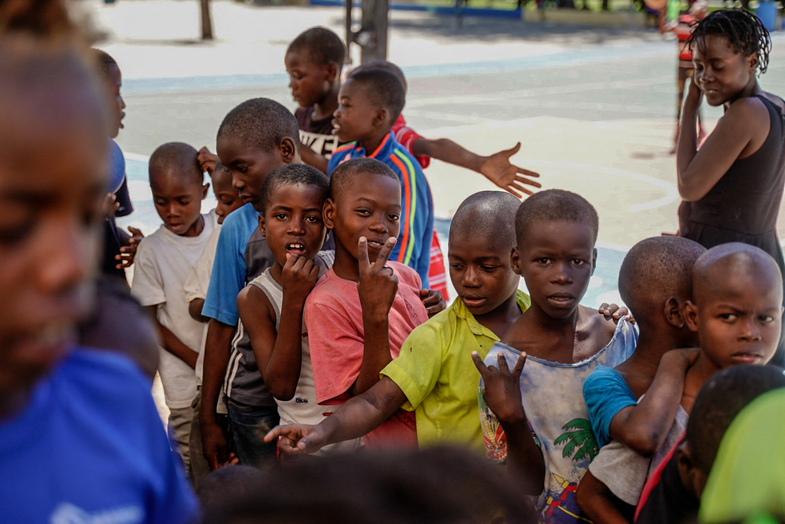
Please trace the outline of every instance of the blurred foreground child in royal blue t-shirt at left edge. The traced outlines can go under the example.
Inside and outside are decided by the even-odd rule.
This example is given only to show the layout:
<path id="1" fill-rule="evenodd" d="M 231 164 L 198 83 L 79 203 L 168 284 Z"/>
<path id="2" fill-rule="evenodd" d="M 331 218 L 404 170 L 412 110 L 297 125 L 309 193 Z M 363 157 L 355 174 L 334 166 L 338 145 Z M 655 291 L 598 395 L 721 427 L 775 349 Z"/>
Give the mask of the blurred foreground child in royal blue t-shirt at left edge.
<path id="1" fill-rule="evenodd" d="M 69 26 L 53 13 L 20 8 L 17 27 L 31 18 L 37 36 L 0 35 L 0 515 L 194 522 L 151 381 L 121 355 L 71 342 L 97 269 L 106 113 L 82 49 L 67 43 L 82 40 L 42 36 L 42 24 Z"/>

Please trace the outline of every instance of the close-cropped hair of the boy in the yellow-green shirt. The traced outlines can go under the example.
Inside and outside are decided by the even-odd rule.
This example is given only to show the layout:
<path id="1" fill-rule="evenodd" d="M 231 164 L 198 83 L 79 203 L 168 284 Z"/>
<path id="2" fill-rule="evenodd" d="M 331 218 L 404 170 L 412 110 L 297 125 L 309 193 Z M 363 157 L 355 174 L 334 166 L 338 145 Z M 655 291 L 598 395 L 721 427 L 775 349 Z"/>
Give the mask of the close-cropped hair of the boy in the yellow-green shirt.
<path id="1" fill-rule="evenodd" d="M 452 217 L 450 240 L 480 236 L 517 246 L 515 214 L 520 200 L 506 191 L 480 191 L 469 195 Z"/>

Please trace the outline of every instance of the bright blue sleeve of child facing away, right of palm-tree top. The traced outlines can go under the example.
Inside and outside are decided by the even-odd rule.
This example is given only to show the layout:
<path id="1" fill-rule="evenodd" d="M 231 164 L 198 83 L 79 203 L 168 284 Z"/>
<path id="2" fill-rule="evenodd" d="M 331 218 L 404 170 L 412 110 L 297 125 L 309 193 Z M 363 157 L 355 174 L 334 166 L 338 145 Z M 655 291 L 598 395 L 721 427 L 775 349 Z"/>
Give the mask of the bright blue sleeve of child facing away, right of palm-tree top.
<path id="1" fill-rule="evenodd" d="M 637 404 L 635 394 L 619 372 L 604 366 L 598 366 L 586 377 L 583 382 L 583 399 L 586 401 L 592 431 L 600 447 L 612 440 L 613 417 L 627 406 Z"/>

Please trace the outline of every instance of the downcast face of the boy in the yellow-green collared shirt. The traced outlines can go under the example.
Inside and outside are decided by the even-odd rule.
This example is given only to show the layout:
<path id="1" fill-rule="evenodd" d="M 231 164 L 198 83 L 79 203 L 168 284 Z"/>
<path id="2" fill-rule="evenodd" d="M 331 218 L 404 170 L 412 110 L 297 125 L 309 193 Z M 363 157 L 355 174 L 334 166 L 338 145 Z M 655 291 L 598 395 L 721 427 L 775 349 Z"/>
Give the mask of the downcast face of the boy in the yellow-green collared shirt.
<path id="1" fill-rule="evenodd" d="M 520 277 L 511 266 L 513 246 L 480 235 L 453 235 L 447 250 L 455 293 L 473 315 L 493 311 L 515 294 Z"/>

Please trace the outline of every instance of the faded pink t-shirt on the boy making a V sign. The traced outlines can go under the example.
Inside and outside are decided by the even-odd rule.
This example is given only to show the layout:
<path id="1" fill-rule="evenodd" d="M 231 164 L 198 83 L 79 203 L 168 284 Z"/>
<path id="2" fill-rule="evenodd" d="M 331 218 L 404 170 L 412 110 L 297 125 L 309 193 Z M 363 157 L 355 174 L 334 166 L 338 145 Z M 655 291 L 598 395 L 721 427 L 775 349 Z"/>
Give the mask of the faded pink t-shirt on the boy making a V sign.
<path id="1" fill-rule="evenodd" d="M 389 340 L 392 358 L 397 358 L 403 340 L 428 320 L 420 300 L 420 277 L 411 267 L 389 261 L 398 276 L 398 293 L 389 312 Z M 349 388 L 360 375 L 363 363 L 363 310 L 357 283 L 335 275 L 330 268 L 308 300 L 303 312 L 311 348 L 316 402 L 342 404 L 349 400 Z M 368 446 L 416 446 L 414 413 L 399 409 L 384 424 L 365 436 Z"/>

